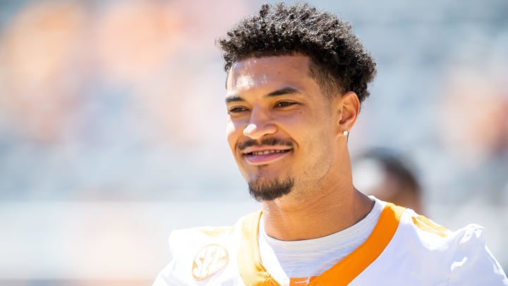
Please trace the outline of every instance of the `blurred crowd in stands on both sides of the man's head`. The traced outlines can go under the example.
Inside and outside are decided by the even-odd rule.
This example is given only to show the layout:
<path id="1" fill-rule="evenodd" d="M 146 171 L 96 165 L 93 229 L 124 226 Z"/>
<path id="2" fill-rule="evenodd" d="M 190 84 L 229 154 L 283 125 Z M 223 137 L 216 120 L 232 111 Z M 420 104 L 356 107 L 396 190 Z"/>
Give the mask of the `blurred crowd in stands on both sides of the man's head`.
<path id="1" fill-rule="evenodd" d="M 214 40 L 261 2 L 0 1 L 0 201 L 247 198 Z M 463 2 L 310 1 L 377 59 L 353 155 L 410 157 L 425 205 L 506 209 L 508 2 Z"/>

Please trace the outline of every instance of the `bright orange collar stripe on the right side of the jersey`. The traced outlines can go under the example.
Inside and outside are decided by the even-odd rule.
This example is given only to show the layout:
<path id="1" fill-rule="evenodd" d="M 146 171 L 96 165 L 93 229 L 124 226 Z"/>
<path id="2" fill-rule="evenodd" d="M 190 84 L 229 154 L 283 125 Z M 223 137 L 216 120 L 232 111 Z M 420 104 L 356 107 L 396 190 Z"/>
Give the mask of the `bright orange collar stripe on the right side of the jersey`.
<path id="1" fill-rule="evenodd" d="M 404 210 L 406 208 L 387 203 L 368 239 L 309 285 L 348 285 L 385 250 L 399 227 Z"/>

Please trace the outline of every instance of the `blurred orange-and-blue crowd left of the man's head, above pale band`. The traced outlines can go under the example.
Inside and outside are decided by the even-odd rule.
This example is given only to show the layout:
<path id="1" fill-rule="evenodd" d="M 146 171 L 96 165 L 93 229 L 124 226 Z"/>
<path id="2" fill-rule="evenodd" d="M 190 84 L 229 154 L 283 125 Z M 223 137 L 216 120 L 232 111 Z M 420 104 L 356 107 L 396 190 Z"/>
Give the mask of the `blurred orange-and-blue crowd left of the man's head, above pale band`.
<path id="1" fill-rule="evenodd" d="M 214 38 L 248 7 L 1 1 L 0 198 L 193 199 L 221 184 L 206 174 L 226 164 Z"/>

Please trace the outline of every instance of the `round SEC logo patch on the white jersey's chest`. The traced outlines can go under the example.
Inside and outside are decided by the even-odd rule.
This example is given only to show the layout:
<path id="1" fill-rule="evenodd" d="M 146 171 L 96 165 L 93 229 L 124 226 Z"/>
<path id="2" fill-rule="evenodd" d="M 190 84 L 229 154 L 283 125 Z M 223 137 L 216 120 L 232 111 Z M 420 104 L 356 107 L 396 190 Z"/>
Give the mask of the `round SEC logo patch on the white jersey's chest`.
<path id="1" fill-rule="evenodd" d="M 219 244 L 208 244 L 196 254 L 192 274 L 195 280 L 203 280 L 224 268 L 229 261 L 226 248 Z"/>

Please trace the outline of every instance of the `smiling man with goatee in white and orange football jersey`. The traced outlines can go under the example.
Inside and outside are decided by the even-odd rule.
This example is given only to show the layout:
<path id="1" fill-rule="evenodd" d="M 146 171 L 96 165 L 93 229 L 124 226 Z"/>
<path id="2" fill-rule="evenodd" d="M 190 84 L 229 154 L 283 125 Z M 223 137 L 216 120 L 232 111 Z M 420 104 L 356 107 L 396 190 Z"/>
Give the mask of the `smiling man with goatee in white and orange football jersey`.
<path id="1" fill-rule="evenodd" d="M 508 285 L 483 230 L 353 186 L 347 146 L 375 63 L 348 23 L 263 5 L 219 40 L 227 133 L 262 211 L 171 234 L 155 285 Z"/>

